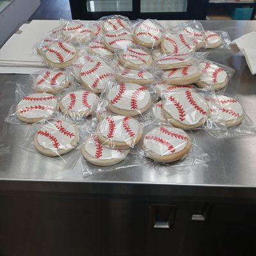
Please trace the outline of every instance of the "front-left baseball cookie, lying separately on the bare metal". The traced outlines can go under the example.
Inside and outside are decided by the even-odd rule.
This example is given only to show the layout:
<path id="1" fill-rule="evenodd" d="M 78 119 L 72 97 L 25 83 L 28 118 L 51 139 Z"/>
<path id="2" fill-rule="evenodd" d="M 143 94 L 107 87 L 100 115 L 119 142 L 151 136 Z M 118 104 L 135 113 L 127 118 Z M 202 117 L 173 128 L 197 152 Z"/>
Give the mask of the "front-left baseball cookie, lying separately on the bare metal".
<path id="1" fill-rule="evenodd" d="M 74 124 L 56 120 L 36 132 L 34 146 L 45 156 L 61 156 L 70 152 L 78 143 L 78 131 Z"/>

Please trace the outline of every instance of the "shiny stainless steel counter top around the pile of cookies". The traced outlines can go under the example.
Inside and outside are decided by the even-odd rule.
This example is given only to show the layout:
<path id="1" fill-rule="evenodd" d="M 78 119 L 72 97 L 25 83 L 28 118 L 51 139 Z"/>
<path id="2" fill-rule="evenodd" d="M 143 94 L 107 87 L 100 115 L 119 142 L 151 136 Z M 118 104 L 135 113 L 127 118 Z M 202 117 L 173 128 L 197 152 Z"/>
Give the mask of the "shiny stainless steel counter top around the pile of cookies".
<path id="1" fill-rule="evenodd" d="M 177 21 L 168 21 L 172 26 Z M 202 21 L 205 29 L 228 31 L 232 40 L 254 31 L 256 21 Z M 209 51 L 209 59 L 236 69 L 227 87 L 235 93 L 244 110 L 256 122 L 256 79 L 241 54 L 228 49 Z M 256 198 L 256 138 L 212 138 L 205 131 L 195 133 L 196 143 L 209 154 L 211 162 L 180 172 L 154 170 L 147 165 L 83 178 L 80 161 L 65 170 L 44 161 L 44 156 L 19 147 L 28 125 L 4 122 L 12 104 L 16 83 L 29 83 L 29 76 L 0 75 L 0 141 L 10 144 L 10 153 L 0 156 L 0 189 L 26 191 L 63 191 L 69 193 L 110 193 L 116 195 L 174 195 Z M 212 190 L 213 189 L 213 190 Z"/>

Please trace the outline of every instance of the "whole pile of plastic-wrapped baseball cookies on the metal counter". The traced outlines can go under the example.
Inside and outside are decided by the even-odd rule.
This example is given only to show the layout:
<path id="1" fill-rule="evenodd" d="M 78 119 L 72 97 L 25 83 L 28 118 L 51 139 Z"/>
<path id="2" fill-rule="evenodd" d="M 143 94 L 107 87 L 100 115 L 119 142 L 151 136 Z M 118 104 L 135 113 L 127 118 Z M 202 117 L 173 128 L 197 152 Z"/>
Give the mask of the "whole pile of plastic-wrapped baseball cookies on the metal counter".
<path id="1" fill-rule="evenodd" d="M 220 47 L 218 33 L 188 23 L 175 31 L 157 20 L 132 23 L 119 15 L 97 22 L 61 22 L 36 46 L 51 69 L 35 77 L 35 93 L 20 100 L 15 113 L 29 124 L 56 112 L 82 120 L 92 115 L 95 131 L 81 146 L 86 161 L 120 163 L 141 141 L 147 157 L 170 163 L 191 148 L 184 130 L 202 127 L 207 118 L 227 127 L 243 121 L 236 99 L 221 94 L 205 98 L 198 91 L 213 92 L 228 84 L 222 65 L 195 56 L 199 49 Z M 70 74 L 79 90 L 68 90 Z M 148 120 L 159 120 L 159 125 L 143 134 L 144 113 L 152 113 Z M 78 143 L 77 126 L 61 118 L 47 122 L 36 132 L 35 148 L 46 156 L 69 152 Z"/>

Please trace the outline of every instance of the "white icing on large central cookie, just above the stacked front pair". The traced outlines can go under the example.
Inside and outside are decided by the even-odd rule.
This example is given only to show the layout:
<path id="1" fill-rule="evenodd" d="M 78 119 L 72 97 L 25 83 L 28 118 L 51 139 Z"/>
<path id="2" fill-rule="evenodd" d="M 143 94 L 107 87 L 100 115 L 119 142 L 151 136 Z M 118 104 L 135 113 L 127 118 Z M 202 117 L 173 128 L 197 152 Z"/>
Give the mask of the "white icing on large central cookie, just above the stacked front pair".
<path id="1" fill-rule="evenodd" d="M 148 105 L 150 93 L 144 86 L 121 83 L 109 90 L 107 99 L 115 108 L 136 111 Z"/>

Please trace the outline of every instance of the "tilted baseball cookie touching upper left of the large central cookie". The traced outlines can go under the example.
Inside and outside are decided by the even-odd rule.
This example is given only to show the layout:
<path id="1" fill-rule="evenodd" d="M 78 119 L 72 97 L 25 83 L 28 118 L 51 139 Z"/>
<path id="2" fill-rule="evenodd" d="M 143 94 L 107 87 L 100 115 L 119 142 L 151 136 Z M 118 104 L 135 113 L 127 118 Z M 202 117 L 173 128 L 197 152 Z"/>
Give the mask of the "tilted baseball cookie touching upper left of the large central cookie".
<path id="1" fill-rule="evenodd" d="M 112 78 L 113 71 L 104 61 L 83 65 L 80 71 L 80 79 L 84 88 L 95 93 L 102 92 L 105 84 Z"/>

